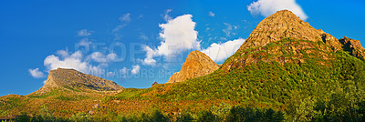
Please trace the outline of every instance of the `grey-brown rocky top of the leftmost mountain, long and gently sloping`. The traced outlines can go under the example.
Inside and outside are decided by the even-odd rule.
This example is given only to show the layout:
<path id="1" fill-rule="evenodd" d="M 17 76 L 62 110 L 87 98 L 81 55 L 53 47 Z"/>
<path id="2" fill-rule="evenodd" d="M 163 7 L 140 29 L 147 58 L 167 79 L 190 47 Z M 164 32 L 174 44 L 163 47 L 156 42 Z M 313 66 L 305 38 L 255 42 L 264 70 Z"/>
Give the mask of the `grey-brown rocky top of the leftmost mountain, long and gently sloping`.
<path id="1" fill-rule="evenodd" d="M 49 71 L 45 85 L 35 93 L 47 92 L 54 88 L 116 91 L 123 89 L 124 87 L 98 76 L 83 74 L 75 69 L 57 68 Z"/>

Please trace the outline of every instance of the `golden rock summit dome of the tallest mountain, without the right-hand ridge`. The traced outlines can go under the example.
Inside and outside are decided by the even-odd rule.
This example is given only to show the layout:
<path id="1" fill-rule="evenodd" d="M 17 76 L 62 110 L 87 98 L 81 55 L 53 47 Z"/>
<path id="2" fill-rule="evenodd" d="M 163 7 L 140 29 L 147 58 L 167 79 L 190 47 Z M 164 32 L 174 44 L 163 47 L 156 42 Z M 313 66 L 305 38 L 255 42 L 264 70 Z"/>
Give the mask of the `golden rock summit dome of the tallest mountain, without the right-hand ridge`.
<path id="1" fill-rule="evenodd" d="M 283 38 L 320 41 L 324 32 L 310 26 L 288 10 L 277 11 L 261 21 L 240 47 L 266 46 Z"/>

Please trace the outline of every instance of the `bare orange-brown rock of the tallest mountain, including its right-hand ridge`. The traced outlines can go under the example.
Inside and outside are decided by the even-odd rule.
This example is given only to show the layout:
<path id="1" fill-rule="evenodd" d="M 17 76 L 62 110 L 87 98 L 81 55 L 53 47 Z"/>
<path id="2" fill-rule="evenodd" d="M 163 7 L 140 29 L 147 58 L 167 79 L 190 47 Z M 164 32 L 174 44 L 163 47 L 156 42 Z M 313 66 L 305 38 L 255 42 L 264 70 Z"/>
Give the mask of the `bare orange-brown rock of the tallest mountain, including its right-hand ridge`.
<path id="1" fill-rule="evenodd" d="M 287 42 L 278 43 L 286 39 Z M 323 43 L 325 46 L 318 46 Z M 292 12 L 282 10 L 261 21 L 235 55 L 224 62 L 222 69 L 230 71 L 258 61 L 277 61 L 282 65 L 287 62 L 300 63 L 303 62 L 303 54 L 313 54 L 311 56 L 327 60 L 333 56 L 325 52 L 339 50 L 349 51 L 360 59 L 365 57 L 360 41 L 346 37 L 338 40 L 321 29 L 313 28 Z"/>

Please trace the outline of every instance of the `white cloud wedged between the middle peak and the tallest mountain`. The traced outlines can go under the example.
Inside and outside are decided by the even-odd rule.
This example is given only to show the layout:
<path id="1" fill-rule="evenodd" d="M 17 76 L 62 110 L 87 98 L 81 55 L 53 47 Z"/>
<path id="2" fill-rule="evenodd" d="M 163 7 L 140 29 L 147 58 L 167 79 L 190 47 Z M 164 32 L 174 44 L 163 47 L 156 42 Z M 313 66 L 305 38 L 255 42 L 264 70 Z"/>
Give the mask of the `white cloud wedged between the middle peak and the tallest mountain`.
<path id="1" fill-rule="evenodd" d="M 223 44 L 212 44 L 202 50 L 204 54 L 211 57 L 214 62 L 222 62 L 229 56 L 235 54 L 235 51 L 245 42 L 245 39 L 238 38 L 232 41 L 227 41 Z"/>

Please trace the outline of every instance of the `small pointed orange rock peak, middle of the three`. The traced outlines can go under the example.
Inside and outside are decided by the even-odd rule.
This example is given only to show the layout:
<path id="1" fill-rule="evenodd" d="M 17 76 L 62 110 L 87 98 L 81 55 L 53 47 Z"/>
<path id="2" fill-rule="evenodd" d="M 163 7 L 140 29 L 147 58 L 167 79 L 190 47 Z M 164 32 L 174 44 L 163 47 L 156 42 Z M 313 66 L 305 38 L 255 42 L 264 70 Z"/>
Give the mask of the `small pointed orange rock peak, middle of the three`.
<path id="1" fill-rule="evenodd" d="M 213 73 L 219 66 L 200 51 L 193 51 L 183 63 L 180 72 L 174 73 L 167 83 L 182 82 L 184 80 Z"/>

